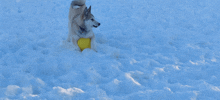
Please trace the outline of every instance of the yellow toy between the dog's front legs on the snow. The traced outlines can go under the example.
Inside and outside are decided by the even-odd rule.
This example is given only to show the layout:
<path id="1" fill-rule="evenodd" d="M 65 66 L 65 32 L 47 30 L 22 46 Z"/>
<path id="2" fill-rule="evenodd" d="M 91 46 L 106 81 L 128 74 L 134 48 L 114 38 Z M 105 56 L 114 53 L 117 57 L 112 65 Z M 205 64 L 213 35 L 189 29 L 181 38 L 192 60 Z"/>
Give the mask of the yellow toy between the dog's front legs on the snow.
<path id="1" fill-rule="evenodd" d="M 91 48 L 90 38 L 80 38 L 77 43 L 81 51 L 83 51 L 86 48 Z"/>

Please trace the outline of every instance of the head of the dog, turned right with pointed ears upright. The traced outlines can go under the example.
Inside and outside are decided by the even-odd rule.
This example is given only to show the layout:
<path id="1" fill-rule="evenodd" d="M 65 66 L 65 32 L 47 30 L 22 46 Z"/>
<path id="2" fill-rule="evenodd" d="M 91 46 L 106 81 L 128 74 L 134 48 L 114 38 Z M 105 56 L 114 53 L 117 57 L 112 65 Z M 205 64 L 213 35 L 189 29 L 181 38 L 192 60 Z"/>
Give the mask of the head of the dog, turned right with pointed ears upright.
<path id="1" fill-rule="evenodd" d="M 91 13 L 91 6 L 89 7 L 89 9 L 87 9 L 87 7 L 84 10 L 83 13 L 83 20 L 84 20 L 84 24 L 87 28 L 97 28 L 98 26 L 100 26 L 101 24 L 99 22 L 97 22 L 94 18 L 94 16 Z"/>

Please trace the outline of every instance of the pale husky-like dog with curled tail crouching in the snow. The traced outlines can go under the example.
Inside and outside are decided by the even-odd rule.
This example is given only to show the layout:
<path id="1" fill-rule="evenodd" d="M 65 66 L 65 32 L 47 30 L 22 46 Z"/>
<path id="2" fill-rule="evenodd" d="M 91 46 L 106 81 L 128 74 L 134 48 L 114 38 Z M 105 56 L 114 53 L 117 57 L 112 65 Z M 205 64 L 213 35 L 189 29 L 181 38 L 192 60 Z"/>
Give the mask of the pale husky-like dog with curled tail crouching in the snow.
<path id="1" fill-rule="evenodd" d="M 92 28 L 97 28 L 100 23 L 97 22 L 91 13 L 91 6 L 87 9 L 86 0 L 73 0 L 69 8 L 69 34 L 67 41 L 72 40 L 76 50 L 80 51 L 77 44 L 80 38 L 91 39 L 91 49 L 96 51 L 95 35 Z M 96 51 L 97 52 L 97 51 Z"/>

